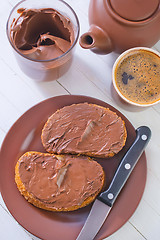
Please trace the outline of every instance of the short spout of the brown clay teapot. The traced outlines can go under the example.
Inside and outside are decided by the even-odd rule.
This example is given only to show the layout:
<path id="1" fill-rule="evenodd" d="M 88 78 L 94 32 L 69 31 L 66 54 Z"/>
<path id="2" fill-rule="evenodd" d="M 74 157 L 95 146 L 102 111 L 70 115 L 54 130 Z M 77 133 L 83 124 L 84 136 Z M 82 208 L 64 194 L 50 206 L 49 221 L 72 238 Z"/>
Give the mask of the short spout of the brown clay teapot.
<path id="1" fill-rule="evenodd" d="M 113 51 L 110 37 L 96 25 L 91 25 L 89 31 L 80 37 L 79 44 L 82 48 L 90 49 L 98 54 L 107 54 Z"/>

